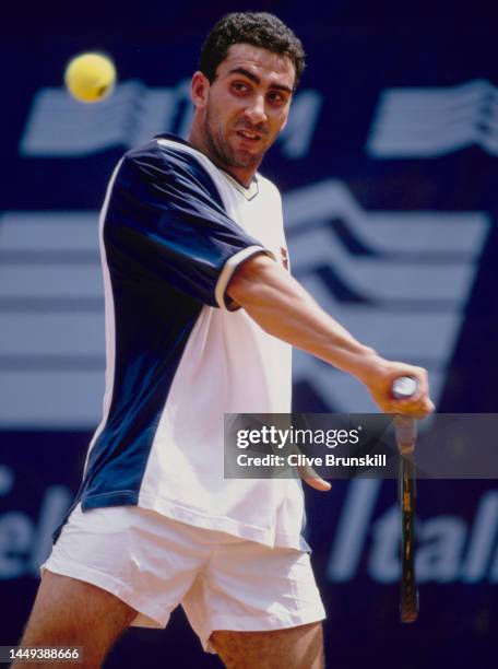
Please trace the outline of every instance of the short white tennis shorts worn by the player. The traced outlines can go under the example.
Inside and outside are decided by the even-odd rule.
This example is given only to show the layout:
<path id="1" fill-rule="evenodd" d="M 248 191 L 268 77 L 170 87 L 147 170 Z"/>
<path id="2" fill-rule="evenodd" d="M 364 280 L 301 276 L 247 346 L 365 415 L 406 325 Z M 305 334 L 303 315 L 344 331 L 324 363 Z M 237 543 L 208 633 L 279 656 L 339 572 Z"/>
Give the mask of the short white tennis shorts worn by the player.
<path id="1" fill-rule="evenodd" d="M 92 583 L 165 627 L 181 603 L 202 647 L 214 630 L 268 631 L 325 618 L 309 554 L 271 549 L 137 506 L 79 505 L 40 570 Z"/>

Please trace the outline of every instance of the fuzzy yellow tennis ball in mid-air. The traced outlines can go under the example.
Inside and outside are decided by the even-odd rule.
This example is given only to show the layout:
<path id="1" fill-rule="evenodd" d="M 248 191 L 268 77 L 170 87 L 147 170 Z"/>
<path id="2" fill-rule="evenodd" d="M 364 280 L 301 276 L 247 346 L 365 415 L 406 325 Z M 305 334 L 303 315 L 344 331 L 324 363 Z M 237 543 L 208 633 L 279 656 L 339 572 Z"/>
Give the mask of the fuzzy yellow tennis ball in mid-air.
<path id="1" fill-rule="evenodd" d="M 64 82 L 68 91 L 80 102 L 95 103 L 112 92 L 116 68 L 107 56 L 82 54 L 69 61 Z"/>

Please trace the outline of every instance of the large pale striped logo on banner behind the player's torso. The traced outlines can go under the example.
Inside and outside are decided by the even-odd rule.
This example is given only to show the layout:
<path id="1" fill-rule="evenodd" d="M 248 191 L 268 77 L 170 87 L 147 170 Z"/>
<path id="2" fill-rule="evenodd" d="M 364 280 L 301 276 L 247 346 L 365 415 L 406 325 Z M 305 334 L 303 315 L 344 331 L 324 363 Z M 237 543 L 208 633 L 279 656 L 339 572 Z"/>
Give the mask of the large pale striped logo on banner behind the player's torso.
<path id="1" fill-rule="evenodd" d="M 426 365 L 437 399 L 488 216 L 365 212 L 333 180 L 284 208 L 293 273 L 358 339 Z M 0 426 L 94 427 L 105 366 L 97 214 L 5 213 L 0 249 Z M 294 361 L 295 380 L 331 410 L 374 409 L 352 377 L 298 351 Z"/>

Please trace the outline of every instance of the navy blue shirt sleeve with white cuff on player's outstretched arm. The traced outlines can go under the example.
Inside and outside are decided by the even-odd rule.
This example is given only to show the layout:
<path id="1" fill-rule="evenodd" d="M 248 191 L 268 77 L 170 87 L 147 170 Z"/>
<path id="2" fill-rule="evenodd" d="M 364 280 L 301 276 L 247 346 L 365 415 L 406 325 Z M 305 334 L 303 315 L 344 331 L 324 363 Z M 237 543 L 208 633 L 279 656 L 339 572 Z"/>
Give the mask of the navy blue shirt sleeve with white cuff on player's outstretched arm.
<path id="1" fill-rule="evenodd" d="M 127 154 L 118 168 L 104 238 L 158 281 L 227 308 L 236 307 L 225 289 L 237 265 L 265 251 L 226 214 L 201 163 L 156 142 Z"/>

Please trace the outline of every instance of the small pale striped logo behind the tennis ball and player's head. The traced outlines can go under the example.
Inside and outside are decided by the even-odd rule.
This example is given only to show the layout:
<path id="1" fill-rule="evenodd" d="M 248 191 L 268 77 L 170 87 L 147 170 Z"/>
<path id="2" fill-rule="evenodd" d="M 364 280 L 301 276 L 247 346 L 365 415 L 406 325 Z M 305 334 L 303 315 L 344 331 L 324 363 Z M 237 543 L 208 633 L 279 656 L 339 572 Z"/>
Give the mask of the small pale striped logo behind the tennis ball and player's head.
<path id="1" fill-rule="evenodd" d="M 97 105 L 82 105 L 64 89 L 42 89 L 33 102 L 20 154 L 81 156 L 116 145 L 135 146 L 159 132 L 186 137 L 192 120 L 189 86 L 189 80 L 170 89 L 149 89 L 140 81 L 128 81 Z M 288 124 L 277 140 L 287 159 L 308 154 L 322 102 L 321 93 L 315 90 L 296 94 Z"/>

